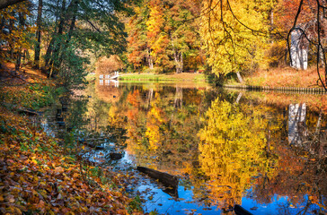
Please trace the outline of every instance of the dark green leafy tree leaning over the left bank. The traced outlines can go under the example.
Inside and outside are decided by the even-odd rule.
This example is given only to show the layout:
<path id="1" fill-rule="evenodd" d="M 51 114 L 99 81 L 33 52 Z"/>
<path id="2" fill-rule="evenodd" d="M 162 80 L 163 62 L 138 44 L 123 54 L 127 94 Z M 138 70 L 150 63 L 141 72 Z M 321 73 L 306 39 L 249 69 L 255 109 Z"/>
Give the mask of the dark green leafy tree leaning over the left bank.
<path id="1" fill-rule="evenodd" d="M 86 50 L 99 56 L 119 54 L 125 49 L 124 25 L 118 13 L 127 12 L 121 1 L 57 0 L 47 2 L 47 17 L 55 18 L 49 31 L 44 69 L 66 86 L 84 82 Z"/>

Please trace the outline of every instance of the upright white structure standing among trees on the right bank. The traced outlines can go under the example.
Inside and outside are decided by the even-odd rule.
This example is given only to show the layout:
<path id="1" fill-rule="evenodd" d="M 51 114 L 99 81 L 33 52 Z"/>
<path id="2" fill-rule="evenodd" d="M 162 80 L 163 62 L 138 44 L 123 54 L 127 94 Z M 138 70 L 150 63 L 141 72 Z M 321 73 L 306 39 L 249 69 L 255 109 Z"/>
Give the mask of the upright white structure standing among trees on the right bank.
<path id="1" fill-rule="evenodd" d="M 306 70 L 308 66 L 307 46 L 305 36 L 301 30 L 293 30 L 291 33 L 291 66 L 296 69 Z"/>

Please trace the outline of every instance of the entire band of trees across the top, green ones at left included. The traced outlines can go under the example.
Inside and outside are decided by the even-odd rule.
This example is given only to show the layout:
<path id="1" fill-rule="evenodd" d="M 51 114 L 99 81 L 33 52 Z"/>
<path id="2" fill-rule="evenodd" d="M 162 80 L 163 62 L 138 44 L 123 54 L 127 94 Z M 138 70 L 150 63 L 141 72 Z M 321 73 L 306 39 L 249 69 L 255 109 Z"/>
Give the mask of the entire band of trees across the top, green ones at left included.
<path id="1" fill-rule="evenodd" d="M 119 55 L 129 72 L 206 70 L 240 82 L 258 69 L 316 64 L 326 88 L 326 0 L 16 2 L 0 3 L 1 58 L 19 69 L 33 56 L 66 84 L 83 82 L 90 56 Z"/>

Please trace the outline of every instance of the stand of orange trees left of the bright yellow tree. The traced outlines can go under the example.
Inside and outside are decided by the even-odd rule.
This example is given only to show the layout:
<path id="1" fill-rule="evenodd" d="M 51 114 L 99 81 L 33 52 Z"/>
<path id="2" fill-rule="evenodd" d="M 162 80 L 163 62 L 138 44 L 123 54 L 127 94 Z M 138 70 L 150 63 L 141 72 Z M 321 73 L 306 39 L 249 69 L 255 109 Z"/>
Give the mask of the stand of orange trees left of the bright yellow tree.
<path id="1" fill-rule="evenodd" d="M 146 65 L 156 72 L 204 64 L 200 51 L 199 1 L 145 0 L 128 22 L 128 56 L 134 67 Z"/>

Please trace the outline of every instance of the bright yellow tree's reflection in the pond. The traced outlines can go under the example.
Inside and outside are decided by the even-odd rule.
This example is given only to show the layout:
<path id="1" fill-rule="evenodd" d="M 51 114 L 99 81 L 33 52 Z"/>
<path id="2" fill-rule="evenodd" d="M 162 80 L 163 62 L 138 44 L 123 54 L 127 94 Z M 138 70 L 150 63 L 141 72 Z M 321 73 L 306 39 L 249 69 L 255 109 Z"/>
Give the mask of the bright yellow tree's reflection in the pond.
<path id="1" fill-rule="evenodd" d="M 208 109 L 207 125 L 199 131 L 199 162 L 208 176 L 210 197 L 220 207 L 240 204 L 253 176 L 269 173 L 266 156 L 268 120 L 261 110 L 243 114 L 241 107 L 217 99 Z"/>

